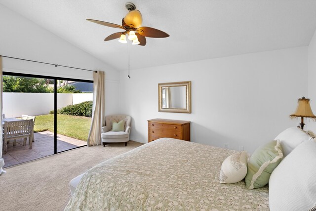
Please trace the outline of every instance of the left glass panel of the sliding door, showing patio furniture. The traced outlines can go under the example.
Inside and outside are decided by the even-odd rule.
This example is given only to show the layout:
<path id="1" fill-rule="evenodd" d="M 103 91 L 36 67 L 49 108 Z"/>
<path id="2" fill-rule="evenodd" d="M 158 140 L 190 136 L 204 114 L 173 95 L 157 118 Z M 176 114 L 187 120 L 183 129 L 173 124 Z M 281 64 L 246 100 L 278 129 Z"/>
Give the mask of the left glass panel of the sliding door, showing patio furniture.
<path id="1" fill-rule="evenodd" d="M 34 120 L 32 149 L 23 138 L 7 141 L 4 167 L 54 154 L 54 80 L 12 75 L 3 75 L 2 80 L 3 120 Z"/>

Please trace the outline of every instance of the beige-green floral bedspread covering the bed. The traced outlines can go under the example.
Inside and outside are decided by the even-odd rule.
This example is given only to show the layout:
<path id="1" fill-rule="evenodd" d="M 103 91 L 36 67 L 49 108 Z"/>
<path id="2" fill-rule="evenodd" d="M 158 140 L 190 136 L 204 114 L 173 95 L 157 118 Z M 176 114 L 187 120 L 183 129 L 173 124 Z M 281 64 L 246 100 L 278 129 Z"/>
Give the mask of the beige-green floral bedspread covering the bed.
<path id="1" fill-rule="evenodd" d="M 65 211 L 266 211 L 268 187 L 220 184 L 235 151 L 161 138 L 87 171 Z"/>

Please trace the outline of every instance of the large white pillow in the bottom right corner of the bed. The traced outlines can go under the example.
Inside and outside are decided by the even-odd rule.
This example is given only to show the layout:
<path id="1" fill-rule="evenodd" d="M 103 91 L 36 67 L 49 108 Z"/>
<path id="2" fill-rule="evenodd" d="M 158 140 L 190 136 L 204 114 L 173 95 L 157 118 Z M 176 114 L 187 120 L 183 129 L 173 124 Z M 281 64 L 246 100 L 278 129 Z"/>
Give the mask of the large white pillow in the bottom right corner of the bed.
<path id="1" fill-rule="evenodd" d="M 271 211 L 308 211 L 316 207 L 316 141 L 297 146 L 272 172 Z"/>

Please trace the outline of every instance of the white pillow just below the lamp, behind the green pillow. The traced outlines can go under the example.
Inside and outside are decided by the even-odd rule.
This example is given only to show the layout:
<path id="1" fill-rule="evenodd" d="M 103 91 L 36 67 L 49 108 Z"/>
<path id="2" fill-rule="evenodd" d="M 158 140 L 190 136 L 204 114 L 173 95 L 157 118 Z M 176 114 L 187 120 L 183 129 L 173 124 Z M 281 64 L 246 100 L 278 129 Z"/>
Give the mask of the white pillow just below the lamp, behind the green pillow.
<path id="1" fill-rule="evenodd" d="M 274 140 L 281 141 L 281 147 L 283 150 L 283 155 L 285 157 L 290 154 L 290 152 L 300 143 L 311 139 L 313 139 L 313 137 L 311 137 L 301 128 L 289 127 L 278 134 Z"/>

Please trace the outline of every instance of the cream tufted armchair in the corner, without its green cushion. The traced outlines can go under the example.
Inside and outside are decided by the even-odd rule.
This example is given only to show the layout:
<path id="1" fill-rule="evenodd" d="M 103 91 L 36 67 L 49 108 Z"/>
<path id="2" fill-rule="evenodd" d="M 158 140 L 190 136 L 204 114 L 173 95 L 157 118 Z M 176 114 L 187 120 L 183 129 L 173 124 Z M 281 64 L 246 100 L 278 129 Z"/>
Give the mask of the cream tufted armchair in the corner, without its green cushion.
<path id="1" fill-rule="evenodd" d="M 119 121 L 124 120 L 124 131 L 112 131 L 112 123 L 118 123 Z M 130 122 L 131 117 L 127 115 L 110 115 L 105 117 L 106 126 L 101 127 L 101 141 L 103 146 L 107 143 L 119 143 L 129 141 L 129 132 L 130 132 Z"/>

